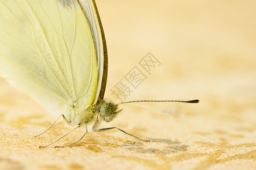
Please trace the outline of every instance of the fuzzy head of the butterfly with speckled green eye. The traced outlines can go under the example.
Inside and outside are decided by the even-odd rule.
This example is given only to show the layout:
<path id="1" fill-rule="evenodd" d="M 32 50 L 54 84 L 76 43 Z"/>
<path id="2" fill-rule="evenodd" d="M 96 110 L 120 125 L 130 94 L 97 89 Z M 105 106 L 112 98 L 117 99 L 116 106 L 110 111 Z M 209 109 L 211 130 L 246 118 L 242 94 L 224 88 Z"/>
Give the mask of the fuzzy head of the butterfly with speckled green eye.
<path id="1" fill-rule="evenodd" d="M 117 110 L 118 104 L 114 104 L 113 102 L 105 103 L 100 109 L 100 115 L 104 118 L 104 121 L 111 122 L 122 111 L 122 109 Z"/>

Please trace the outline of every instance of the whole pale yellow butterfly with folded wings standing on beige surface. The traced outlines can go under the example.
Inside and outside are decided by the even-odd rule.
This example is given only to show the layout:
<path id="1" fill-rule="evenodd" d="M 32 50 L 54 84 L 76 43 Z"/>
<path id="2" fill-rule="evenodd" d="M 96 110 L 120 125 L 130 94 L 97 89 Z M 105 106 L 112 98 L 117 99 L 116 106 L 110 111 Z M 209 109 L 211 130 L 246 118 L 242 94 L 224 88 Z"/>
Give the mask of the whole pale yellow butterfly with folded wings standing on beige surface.
<path id="1" fill-rule="evenodd" d="M 64 146 L 79 142 L 90 123 L 93 131 L 121 130 L 99 128 L 123 103 L 104 100 L 108 53 L 94 0 L 1 0 L 0 37 L 1 76 L 56 115 L 53 124 L 63 117 L 75 127 L 49 145 L 82 126 L 85 133 Z"/>

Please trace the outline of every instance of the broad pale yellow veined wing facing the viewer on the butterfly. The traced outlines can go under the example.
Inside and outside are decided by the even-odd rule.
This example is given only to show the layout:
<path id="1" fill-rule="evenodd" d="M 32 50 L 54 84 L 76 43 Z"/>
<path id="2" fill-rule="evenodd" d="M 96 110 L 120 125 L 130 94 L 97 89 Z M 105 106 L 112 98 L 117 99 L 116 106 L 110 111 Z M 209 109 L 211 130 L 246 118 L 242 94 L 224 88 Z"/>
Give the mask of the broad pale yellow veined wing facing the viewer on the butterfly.
<path id="1" fill-rule="evenodd" d="M 98 98 L 104 61 L 90 23 L 76 0 L 1 0 L 1 75 L 51 113 L 73 102 L 87 108 Z"/>

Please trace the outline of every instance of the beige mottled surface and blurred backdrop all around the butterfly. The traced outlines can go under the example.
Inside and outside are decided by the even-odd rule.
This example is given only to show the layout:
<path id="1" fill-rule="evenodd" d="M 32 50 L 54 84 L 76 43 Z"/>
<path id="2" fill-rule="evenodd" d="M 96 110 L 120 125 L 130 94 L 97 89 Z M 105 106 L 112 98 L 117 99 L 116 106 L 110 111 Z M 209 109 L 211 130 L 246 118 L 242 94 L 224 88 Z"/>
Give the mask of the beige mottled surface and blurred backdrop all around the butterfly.
<path id="1" fill-rule="evenodd" d="M 159 3 L 160 2 L 160 3 Z M 0 79 L 0 169 L 256 169 L 256 2 L 97 1 L 109 52 L 105 97 L 151 52 L 162 64 L 126 100 L 190 100 L 122 105 L 113 130 L 67 148 L 42 148 L 70 129 Z M 75 141 L 79 129 L 59 145 Z"/>

